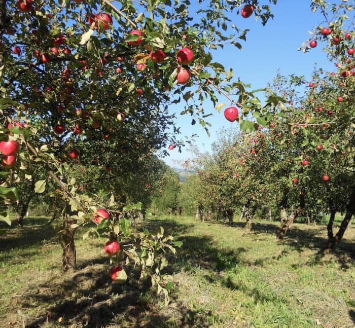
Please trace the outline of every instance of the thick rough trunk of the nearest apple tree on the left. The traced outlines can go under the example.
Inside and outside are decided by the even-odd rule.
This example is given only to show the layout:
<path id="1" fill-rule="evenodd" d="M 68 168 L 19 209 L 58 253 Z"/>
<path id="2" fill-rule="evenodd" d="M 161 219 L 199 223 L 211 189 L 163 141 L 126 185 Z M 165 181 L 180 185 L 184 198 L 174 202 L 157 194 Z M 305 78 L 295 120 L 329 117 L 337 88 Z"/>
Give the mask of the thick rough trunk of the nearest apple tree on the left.
<path id="1" fill-rule="evenodd" d="M 76 228 L 72 228 L 75 224 L 75 220 L 70 216 L 74 213 L 69 210 L 69 205 L 66 204 L 66 213 L 64 215 L 64 229 L 59 234 L 60 245 L 63 249 L 62 255 L 62 267 L 63 271 L 68 269 L 75 269 L 77 267 L 77 252 L 74 243 L 74 234 Z"/>

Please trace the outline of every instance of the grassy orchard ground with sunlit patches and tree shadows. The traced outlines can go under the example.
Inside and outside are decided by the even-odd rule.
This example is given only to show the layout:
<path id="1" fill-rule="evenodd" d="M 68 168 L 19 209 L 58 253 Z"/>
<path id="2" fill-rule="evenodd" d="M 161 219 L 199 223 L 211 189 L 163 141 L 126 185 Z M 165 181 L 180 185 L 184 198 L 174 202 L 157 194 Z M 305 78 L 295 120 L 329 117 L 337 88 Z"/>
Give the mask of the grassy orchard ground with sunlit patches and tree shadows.
<path id="1" fill-rule="evenodd" d="M 277 242 L 276 222 L 245 233 L 239 222 L 148 221 L 184 242 L 170 258 L 176 289 L 165 308 L 133 271 L 111 282 L 103 241 L 78 234 L 78 270 L 63 274 L 46 222 L 0 225 L 0 327 L 355 327 L 354 223 L 322 254 L 323 225 L 294 224 Z"/>

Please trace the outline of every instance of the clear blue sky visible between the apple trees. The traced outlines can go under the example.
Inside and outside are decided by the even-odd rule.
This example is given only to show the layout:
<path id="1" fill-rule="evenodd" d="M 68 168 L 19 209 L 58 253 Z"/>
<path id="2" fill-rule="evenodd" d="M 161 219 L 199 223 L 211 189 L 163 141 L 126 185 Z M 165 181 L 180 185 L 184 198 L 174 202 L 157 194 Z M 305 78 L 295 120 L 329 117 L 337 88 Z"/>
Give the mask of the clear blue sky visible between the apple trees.
<path id="1" fill-rule="evenodd" d="M 213 53 L 214 61 L 221 62 L 226 68 L 232 67 L 235 77 L 251 84 L 251 90 L 266 87 L 278 70 L 281 75 L 304 75 L 308 81 L 315 64 L 326 70 L 333 69 L 334 64 L 327 61 L 321 43 L 308 53 L 297 51 L 302 43 L 310 38 L 309 31 L 314 26 L 326 26 L 323 15 L 311 12 L 310 0 L 279 0 L 276 6 L 272 6 L 272 12 L 274 19 L 269 20 L 266 26 L 262 26 L 260 20 L 255 21 L 254 16 L 244 19 L 235 14 L 234 24 L 250 29 L 246 42 L 242 42 L 243 49 L 227 46 L 223 51 Z M 228 100 L 222 97 L 220 102 L 228 104 Z M 181 127 L 182 136 L 192 133 L 199 135 L 195 144 L 202 152 L 210 151 L 211 143 L 216 141 L 217 132 L 222 128 L 238 128 L 236 122 L 229 123 L 224 118 L 223 110 L 219 114 L 210 103 L 206 103 L 205 112 L 214 113 L 214 116 L 208 118 L 212 124 L 209 129 L 211 136 L 208 137 L 198 123 L 191 126 L 190 116 L 179 115 L 182 106 L 173 105 L 170 111 L 177 113 L 176 123 Z M 170 156 L 165 157 L 164 161 L 169 166 L 179 167 L 176 161 L 182 162 L 192 156 L 187 149 L 188 147 L 183 148 L 182 153 L 177 149 L 169 151 Z"/>

